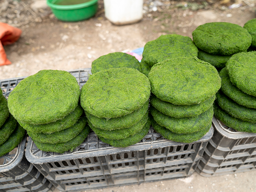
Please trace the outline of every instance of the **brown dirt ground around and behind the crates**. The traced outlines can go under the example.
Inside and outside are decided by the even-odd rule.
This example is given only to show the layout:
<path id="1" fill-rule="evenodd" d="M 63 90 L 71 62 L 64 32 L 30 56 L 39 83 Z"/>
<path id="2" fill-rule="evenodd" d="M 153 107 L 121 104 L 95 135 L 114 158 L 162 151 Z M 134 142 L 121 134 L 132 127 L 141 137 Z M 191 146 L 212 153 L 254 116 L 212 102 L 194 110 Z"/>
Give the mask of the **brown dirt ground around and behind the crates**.
<path id="1" fill-rule="evenodd" d="M 18 1 L 16 4 L 13 2 L 0 1 L 7 4 L 4 11 L 2 6 L 0 21 L 19 27 L 23 33 L 18 42 L 4 46 L 12 64 L 0 66 L 0 80 L 33 75 L 42 69 L 90 68 L 92 61 L 102 55 L 143 47 L 148 41 L 163 34 L 179 34 L 192 38 L 192 31 L 207 22 L 225 21 L 243 26 L 246 21 L 256 17 L 254 0 L 144 0 L 144 15 L 140 22 L 115 26 L 104 16 L 103 0 L 99 1 L 99 10 L 94 17 L 73 23 L 57 20 L 47 7 L 30 9 L 33 0 L 24 1 L 25 5 L 17 4 Z M 15 6 L 25 7 L 25 12 L 23 8 L 19 12 Z M 152 11 L 153 6 L 157 7 L 156 12 Z M 234 6 L 238 8 L 232 8 Z M 247 192 L 256 191 L 255 178 L 256 171 L 210 178 L 194 173 L 186 179 L 88 191 Z M 55 189 L 54 192 L 58 191 Z"/>

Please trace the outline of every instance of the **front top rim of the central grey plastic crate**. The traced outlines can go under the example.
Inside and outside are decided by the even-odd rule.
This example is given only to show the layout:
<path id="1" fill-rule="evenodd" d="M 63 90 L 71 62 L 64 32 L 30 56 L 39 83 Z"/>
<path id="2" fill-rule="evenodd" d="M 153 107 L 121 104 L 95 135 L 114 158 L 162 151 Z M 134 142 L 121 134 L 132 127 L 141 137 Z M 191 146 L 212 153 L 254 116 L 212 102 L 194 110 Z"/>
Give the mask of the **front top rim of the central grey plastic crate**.
<path id="1" fill-rule="evenodd" d="M 212 138 L 213 135 L 213 126 L 211 126 L 210 130 L 199 140 L 191 142 L 198 143 L 198 142 L 204 142 L 209 141 Z M 106 147 L 106 148 L 98 148 L 98 149 L 91 149 L 91 150 L 83 150 L 83 151 L 75 151 L 71 154 L 64 154 L 64 155 L 57 155 L 54 158 L 52 157 L 36 157 L 33 156 L 31 153 L 31 147 L 33 145 L 33 141 L 30 137 L 28 137 L 28 143 L 27 143 L 27 150 L 25 152 L 26 158 L 30 163 L 33 164 L 44 164 L 44 163 L 50 163 L 50 162 L 56 162 L 56 161 L 65 161 L 65 160 L 74 160 L 78 158 L 87 158 L 87 157 L 94 157 L 94 156 L 106 156 L 106 155 L 113 155 L 121 152 L 130 152 L 130 151 L 143 151 L 148 150 L 152 148 L 163 148 L 163 147 L 169 147 L 169 146 L 177 146 L 177 145 L 184 145 L 184 144 L 190 144 L 190 143 L 182 143 L 182 142 L 175 142 L 172 140 L 159 140 L 159 141 L 152 141 L 152 142 L 142 142 L 142 143 L 136 143 L 134 145 L 131 145 L 126 148 L 118 148 L 118 147 Z M 39 149 L 38 149 L 39 150 Z M 99 152 L 97 154 L 97 152 Z"/>

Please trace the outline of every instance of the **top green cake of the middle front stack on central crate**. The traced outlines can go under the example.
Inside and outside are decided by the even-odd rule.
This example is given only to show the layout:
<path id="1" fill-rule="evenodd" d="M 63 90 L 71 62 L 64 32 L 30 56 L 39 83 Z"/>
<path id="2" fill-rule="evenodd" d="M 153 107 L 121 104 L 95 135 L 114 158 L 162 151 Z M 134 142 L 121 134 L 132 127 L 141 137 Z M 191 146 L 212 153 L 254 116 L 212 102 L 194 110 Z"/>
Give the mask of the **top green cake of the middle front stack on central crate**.
<path id="1" fill-rule="evenodd" d="M 136 69 L 110 68 L 91 75 L 80 102 L 93 116 L 116 118 L 141 108 L 149 99 L 148 78 Z"/>

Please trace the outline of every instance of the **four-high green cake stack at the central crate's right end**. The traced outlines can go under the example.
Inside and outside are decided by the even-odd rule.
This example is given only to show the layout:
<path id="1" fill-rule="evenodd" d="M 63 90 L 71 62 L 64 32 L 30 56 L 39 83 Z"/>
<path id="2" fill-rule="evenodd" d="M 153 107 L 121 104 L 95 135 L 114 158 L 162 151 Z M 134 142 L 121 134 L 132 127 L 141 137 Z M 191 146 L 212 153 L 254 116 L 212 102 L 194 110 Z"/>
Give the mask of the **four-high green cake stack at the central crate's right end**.
<path id="1" fill-rule="evenodd" d="M 154 65 L 150 113 L 154 129 L 166 139 L 190 143 L 211 128 L 220 76 L 209 63 L 194 58 L 169 59 Z"/>

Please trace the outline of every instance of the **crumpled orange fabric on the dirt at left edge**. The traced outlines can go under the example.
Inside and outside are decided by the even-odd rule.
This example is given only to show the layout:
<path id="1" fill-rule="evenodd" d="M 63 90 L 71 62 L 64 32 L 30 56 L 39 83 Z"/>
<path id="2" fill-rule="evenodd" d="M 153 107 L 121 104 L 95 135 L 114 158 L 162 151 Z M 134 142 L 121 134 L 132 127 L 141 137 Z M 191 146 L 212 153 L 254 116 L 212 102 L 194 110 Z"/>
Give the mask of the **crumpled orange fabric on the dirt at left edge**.
<path id="1" fill-rule="evenodd" d="M 12 63 L 7 59 L 3 45 L 13 44 L 20 38 L 21 33 L 20 29 L 0 22 L 0 66 Z"/>

